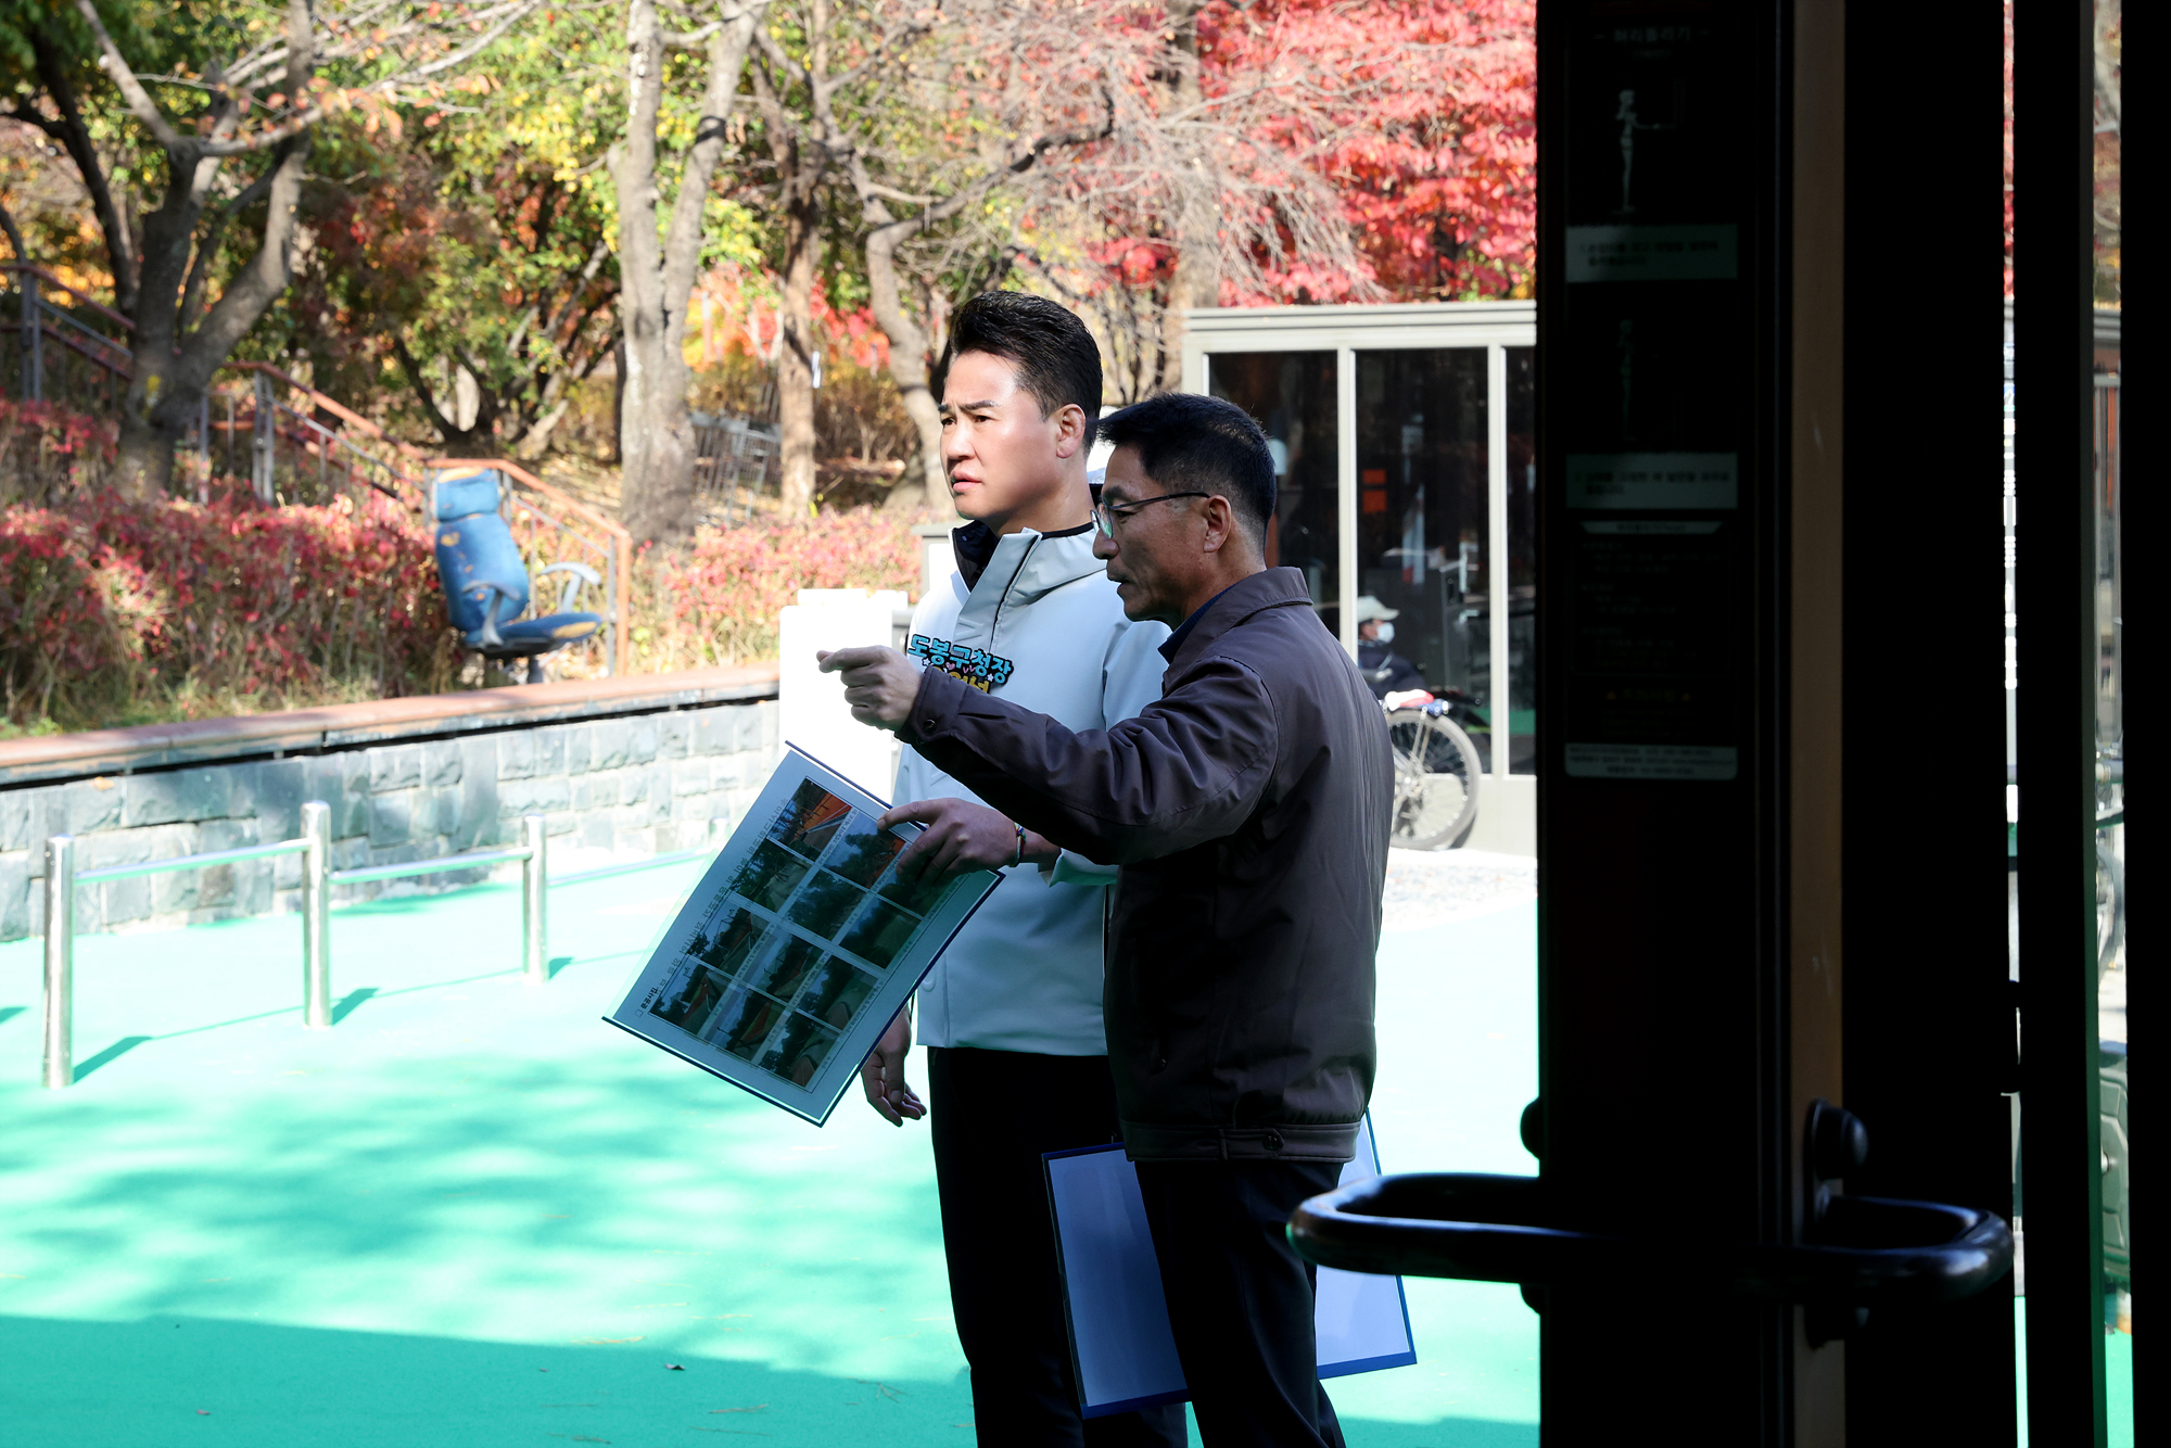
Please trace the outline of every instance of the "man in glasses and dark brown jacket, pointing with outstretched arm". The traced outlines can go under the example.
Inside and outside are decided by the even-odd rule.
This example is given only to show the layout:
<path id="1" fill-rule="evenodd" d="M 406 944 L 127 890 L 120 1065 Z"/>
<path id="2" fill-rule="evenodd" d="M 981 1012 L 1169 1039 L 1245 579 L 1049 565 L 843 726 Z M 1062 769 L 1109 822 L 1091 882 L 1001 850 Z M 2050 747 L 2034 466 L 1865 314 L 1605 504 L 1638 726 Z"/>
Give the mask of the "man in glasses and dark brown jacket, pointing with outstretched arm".
<path id="1" fill-rule="evenodd" d="M 1313 1274 L 1283 1227 L 1335 1185 L 1372 1094 L 1387 729 L 1303 575 L 1266 567 L 1274 467 L 1259 425 L 1164 395 L 1103 419 L 1101 436 L 1116 452 L 1096 551 L 1131 619 L 1177 625 L 1157 703 L 1070 732 L 890 649 L 823 666 L 845 673 L 862 723 L 992 805 L 892 810 L 927 825 L 901 873 L 1012 864 L 1018 827 L 1120 866 L 1109 1064 L 1201 1433 L 1216 1448 L 1340 1446 Z"/>

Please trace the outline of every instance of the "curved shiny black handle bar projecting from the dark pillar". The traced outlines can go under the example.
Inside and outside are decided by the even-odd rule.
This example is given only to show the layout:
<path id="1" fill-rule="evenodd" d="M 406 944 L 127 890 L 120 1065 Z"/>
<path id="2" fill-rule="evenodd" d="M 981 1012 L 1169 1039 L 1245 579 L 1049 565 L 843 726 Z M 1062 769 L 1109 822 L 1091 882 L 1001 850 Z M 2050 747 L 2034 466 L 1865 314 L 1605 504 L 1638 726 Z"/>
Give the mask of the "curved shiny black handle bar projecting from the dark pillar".
<path id="1" fill-rule="evenodd" d="M 1487 1283 L 1663 1281 L 1791 1303 L 1950 1303 L 2013 1270 L 2013 1233 L 1971 1207 L 1832 1196 L 1813 1244 L 1574 1231 L 1537 1177 L 1398 1174 L 1313 1196 L 1290 1242 L 1322 1268 Z"/>

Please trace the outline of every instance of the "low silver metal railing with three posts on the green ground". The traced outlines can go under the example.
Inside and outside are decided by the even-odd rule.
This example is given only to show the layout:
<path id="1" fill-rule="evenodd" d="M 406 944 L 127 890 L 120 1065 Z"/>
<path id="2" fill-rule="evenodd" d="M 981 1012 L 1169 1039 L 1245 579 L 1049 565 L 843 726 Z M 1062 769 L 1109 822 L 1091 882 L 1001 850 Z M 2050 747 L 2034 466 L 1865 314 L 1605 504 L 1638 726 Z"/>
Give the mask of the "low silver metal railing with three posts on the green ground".
<path id="1" fill-rule="evenodd" d="M 243 844 L 202 855 L 141 860 L 98 871 L 76 871 L 76 838 L 46 838 L 46 1001 L 41 1081 L 48 1090 L 76 1081 L 76 888 L 137 875 L 169 871 L 206 871 L 241 860 L 302 855 L 302 1025 L 310 1031 L 332 1029 L 332 886 L 354 886 L 371 879 L 404 879 L 410 875 L 443 875 L 471 871 L 506 860 L 521 862 L 521 979 L 528 986 L 549 981 L 549 910 L 547 858 L 549 840 L 541 814 L 521 816 L 521 842 L 502 849 L 475 849 L 462 855 L 408 860 L 334 871 L 332 805 L 310 799 L 302 805 L 302 834 L 271 844 Z"/>

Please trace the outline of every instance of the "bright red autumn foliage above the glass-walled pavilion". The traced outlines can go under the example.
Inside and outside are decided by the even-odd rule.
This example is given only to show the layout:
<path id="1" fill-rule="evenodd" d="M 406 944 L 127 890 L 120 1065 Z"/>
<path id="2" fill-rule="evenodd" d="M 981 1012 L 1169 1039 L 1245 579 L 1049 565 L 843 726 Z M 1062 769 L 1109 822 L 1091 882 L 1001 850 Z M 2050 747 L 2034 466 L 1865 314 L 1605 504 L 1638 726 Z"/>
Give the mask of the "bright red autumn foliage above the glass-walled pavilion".
<path id="1" fill-rule="evenodd" d="M 1125 22 L 1159 30 L 1155 7 Z M 1253 243 L 1255 271 L 1224 267 L 1220 302 L 1405 302 L 1531 295 L 1537 265 L 1535 0 L 1209 0 L 1198 11 L 1203 115 L 1229 130 L 1220 215 Z M 1135 78 L 1151 89 L 1157 72 Z M 1175 109 L 1175 106 L 1170 106 Z M 1088 167 L 1092 161 L 1088 161 Z M 1292 172 L 1324 180 L 1359 263 L 1298 245 L 1277 208 Z M 1127 191 L 1153 195 L 1131 178 Z M 1109 204 L 1114 237 L 1092 247 L 1109 280 L 1151 289 L 1175 263 L 1172 217 Z"/>

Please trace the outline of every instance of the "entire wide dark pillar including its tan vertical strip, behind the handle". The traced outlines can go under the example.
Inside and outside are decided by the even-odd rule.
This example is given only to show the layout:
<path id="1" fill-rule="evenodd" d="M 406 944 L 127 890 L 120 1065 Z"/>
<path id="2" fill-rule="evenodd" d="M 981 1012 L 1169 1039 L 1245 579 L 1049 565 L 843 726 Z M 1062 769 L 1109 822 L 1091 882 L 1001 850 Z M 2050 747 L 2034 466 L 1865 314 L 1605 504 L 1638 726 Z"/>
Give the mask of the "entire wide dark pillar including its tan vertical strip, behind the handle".
<path id="1" fill-rule="evenodd" d="M 1817 1101 L 1867 1125 L 1819 1157 L 1848 1192 L 2010 1209 L 1997 15 L 1963 22 L 1539 7 L 1531 1127 L 1561 1220 L 1680 1259 L 1531 1294 L 1550 1441 L 2013 1441 L 2008 1287 L 1865 1322 L 1693 1285 L 1700 1244 L 1815 1240 Z"/>

